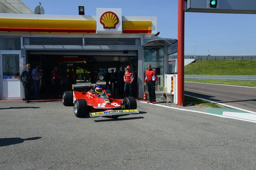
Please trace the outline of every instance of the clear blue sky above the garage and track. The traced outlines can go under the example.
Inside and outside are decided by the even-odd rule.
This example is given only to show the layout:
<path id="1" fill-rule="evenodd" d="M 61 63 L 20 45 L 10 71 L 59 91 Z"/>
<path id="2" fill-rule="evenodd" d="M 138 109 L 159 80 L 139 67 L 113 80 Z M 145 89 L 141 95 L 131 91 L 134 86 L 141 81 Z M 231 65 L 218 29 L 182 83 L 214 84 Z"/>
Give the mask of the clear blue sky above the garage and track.
<path id="1" fill-rule="evenodd" d="M 32 11 L 38 0 L 22 0 Z M 122 8 L 123 16 L 157 16 L 159 37 L 178 39 L 178 0 L 41 0 L 45 14 L 96 15 L 96 8 Z M 196 46 L 195 46 L 196 44 Z M 185 12 L 185 55 L 256 55 L 256 14 Z"/>

